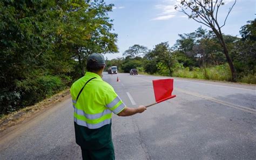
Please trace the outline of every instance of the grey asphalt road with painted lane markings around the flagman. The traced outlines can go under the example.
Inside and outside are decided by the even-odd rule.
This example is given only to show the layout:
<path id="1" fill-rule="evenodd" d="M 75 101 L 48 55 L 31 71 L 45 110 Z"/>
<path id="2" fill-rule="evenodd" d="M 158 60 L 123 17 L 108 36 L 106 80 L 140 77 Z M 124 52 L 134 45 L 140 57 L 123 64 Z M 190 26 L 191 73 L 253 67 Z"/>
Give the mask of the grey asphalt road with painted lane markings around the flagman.
<path id="1" fill-rule="evenodd" d="M 117 76 L 120 82 L 117 82 Z M 126 106 L 154 102 L 161 76 L 104 73 Z M 256 159 L 256 87 L 174 78 L 177 97 L 113 115 L 116 159 Z M 0 138 L 0 159 L 81 159 L 71 99 Z"/>

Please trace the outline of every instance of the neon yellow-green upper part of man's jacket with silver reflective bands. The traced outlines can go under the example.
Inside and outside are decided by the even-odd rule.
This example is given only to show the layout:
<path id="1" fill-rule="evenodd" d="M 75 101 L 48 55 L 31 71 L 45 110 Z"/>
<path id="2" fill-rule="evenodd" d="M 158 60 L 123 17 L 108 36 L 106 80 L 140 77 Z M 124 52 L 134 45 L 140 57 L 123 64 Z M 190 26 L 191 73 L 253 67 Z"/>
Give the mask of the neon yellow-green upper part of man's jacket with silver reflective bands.
<path id="1" fill-rule="evenodd" d="M 79 91 L 86 84 L 77 99 Z M 74 121 L 79 126 L 97 129 L 111 123 L 112 112 L 118 114 L 126 107 L 112 86 L 95 73 L 86 72 L 70 89 L 74 108 Z"/>

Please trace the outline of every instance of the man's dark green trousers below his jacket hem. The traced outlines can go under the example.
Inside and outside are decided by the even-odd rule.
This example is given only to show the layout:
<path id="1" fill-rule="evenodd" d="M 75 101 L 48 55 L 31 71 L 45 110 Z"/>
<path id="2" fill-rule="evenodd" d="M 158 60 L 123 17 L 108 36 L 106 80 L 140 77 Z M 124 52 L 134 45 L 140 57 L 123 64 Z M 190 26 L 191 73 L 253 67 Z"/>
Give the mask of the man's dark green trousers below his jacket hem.
<path id="1" fill-rule="evenodd" d="M 114 160 L 114 147 L 112 142 L 99 150 L 83 149 L 82 147 L 81 150 L 83 160 Z"/>

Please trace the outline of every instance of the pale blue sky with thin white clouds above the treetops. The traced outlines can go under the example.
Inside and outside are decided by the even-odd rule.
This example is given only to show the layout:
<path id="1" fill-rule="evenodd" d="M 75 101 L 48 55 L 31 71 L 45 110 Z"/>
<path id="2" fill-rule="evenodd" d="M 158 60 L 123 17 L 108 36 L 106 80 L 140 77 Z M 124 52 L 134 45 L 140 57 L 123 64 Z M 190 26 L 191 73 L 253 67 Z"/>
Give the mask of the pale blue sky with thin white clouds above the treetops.
<path id="1" fill-rule="evenodd" d="M 114 4 L 109 17 L 113 19 L 112 32 L 118 34 L 118 53 L 105 54 L 105 58 L 123 57 L 125 50 L 134 44 L 146 46 L 150 50 L 159 43 L 168 41 L 170 46 L 179 39 L 178 34 L 194 32 L 198 27 L 210 30 L 184 13 L 174 9 L 177 0 L 105 0 L 106 4 Z M 228 9 L 234 0 L 224 0 L 220 7 L 218 21 L 224 23 Z M 256 13 L 255 0 L 237 0 L 226 25 L 221 28 L 224 34 L 240 37 L 241 26 L 253 20 Z"/>

